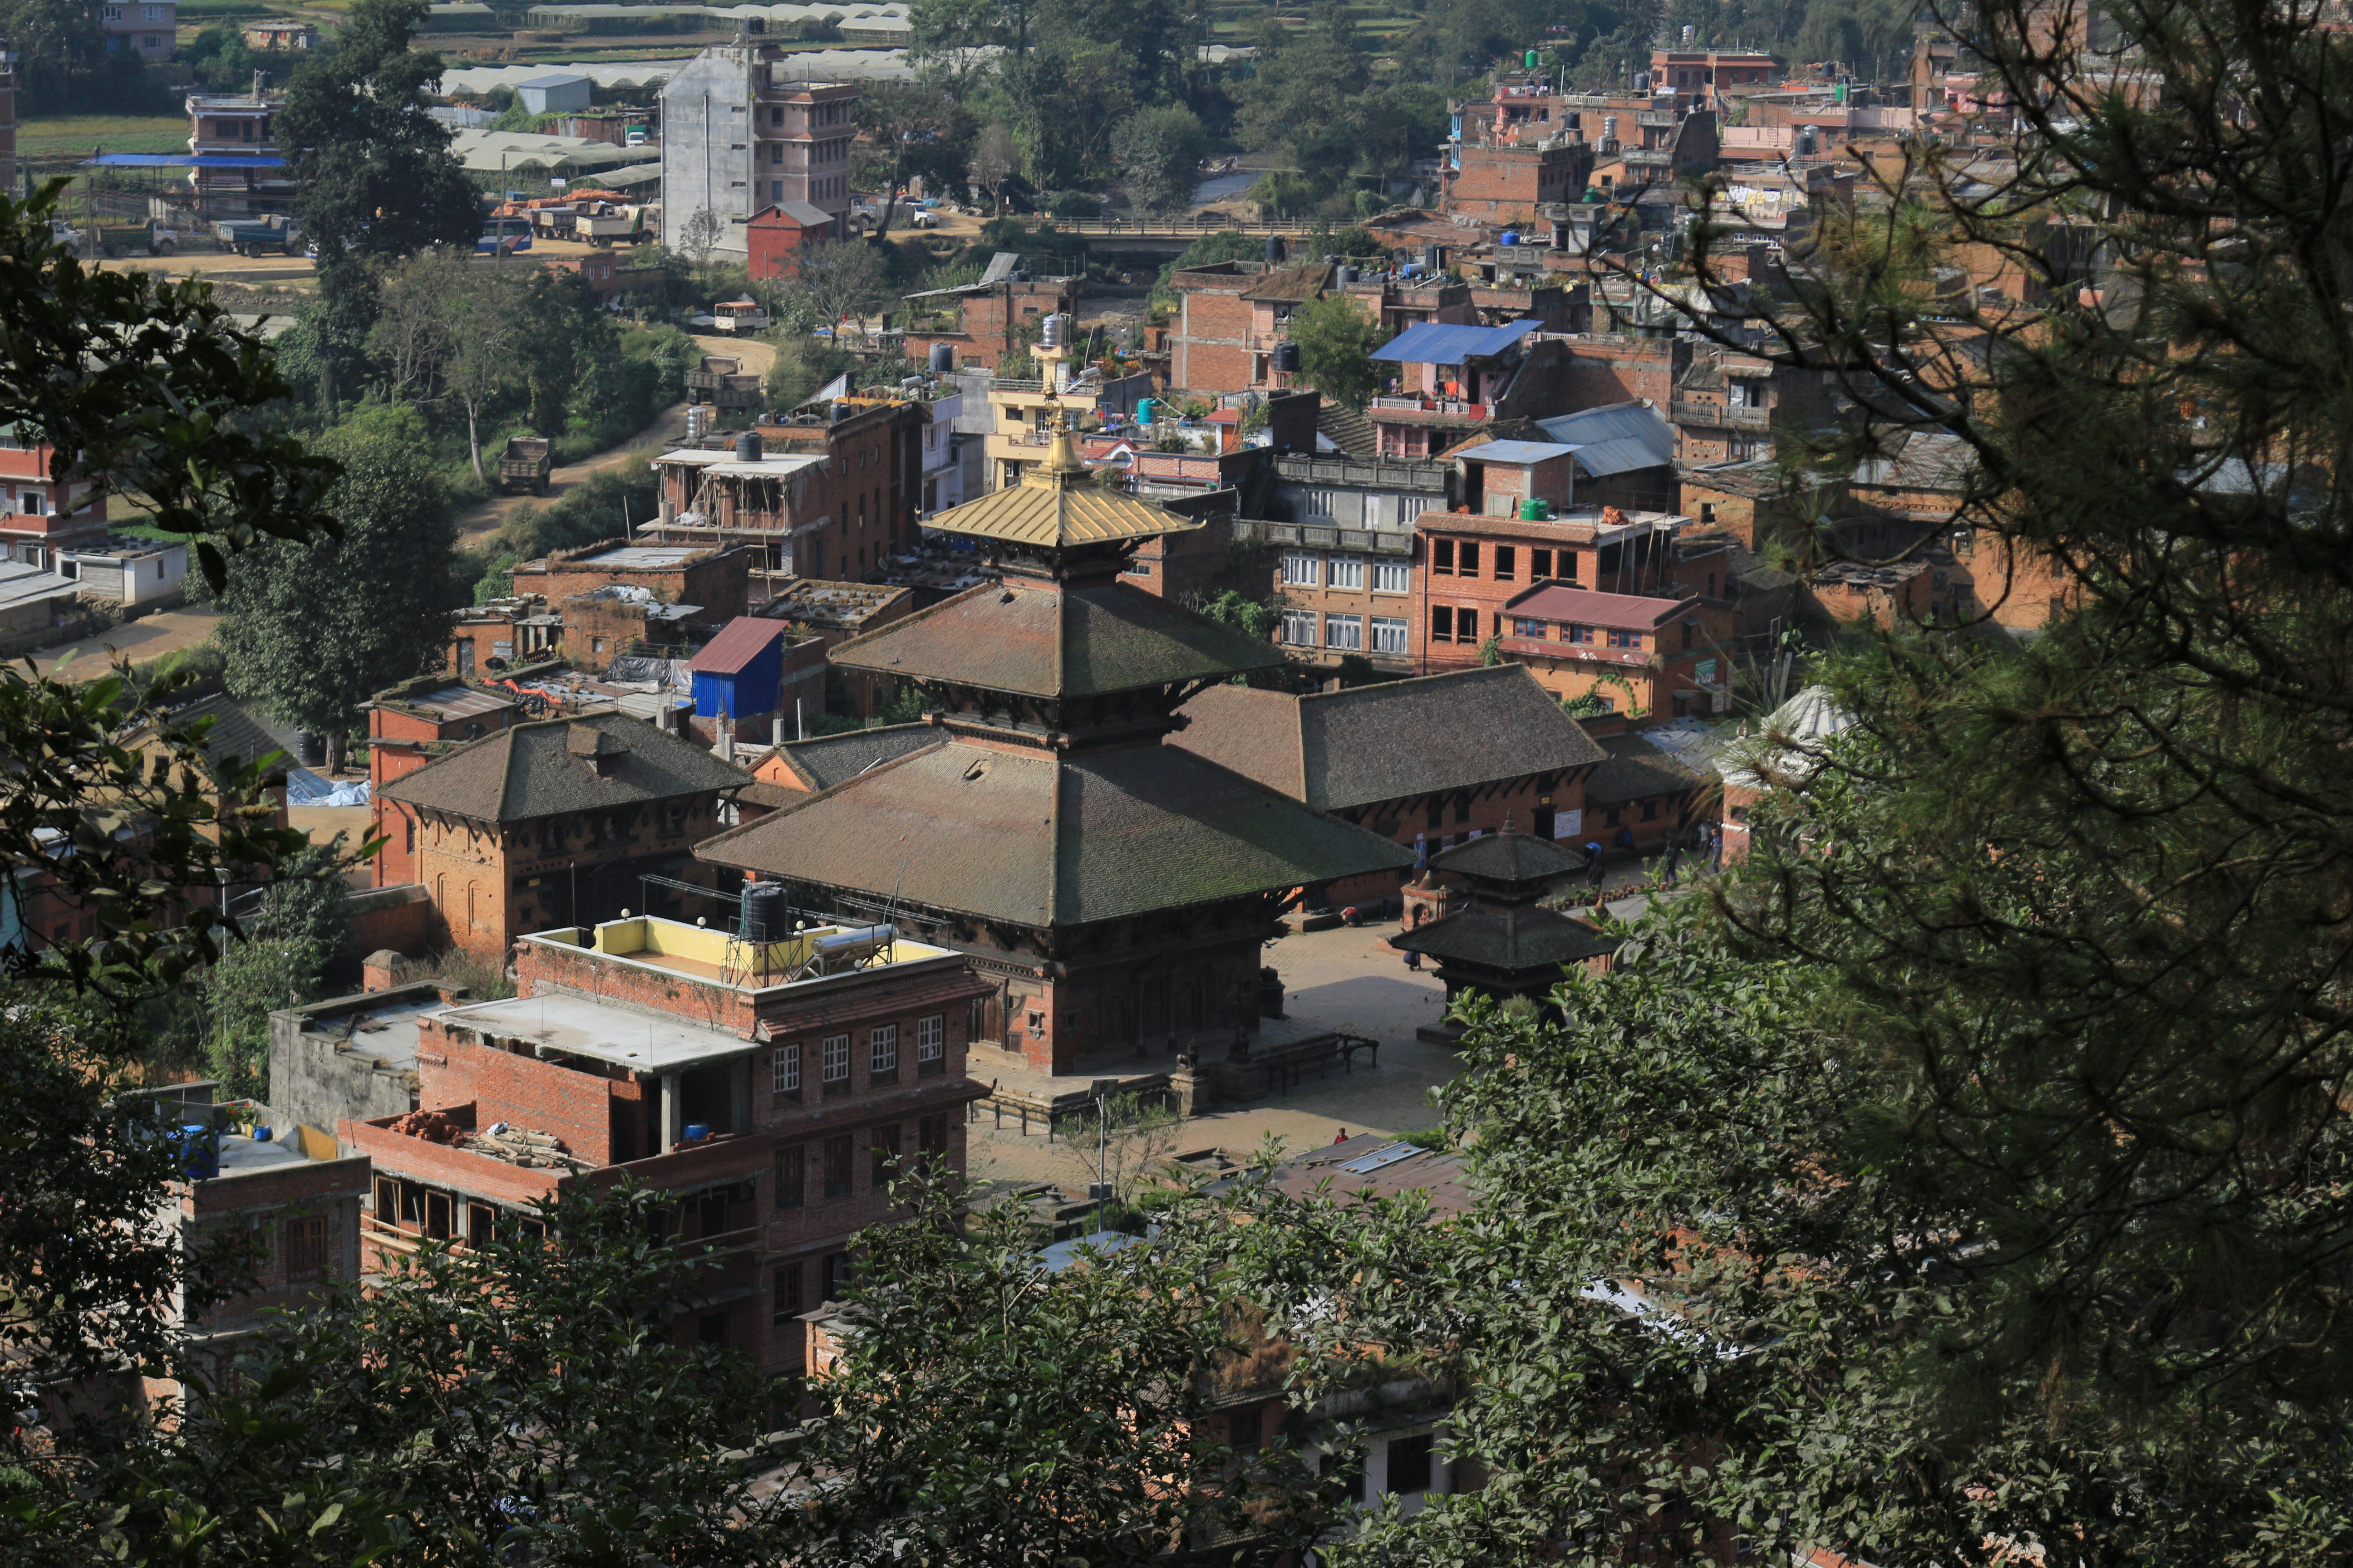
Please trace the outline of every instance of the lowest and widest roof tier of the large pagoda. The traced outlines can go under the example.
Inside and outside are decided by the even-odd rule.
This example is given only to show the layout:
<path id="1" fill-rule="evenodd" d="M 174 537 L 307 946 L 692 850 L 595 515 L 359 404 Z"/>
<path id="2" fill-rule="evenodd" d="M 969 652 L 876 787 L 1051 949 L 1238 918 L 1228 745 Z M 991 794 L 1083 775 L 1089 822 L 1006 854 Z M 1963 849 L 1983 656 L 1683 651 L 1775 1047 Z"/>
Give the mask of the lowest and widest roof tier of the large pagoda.
<path id="1" fill-rule="evenodd" d="M 694 849 L 791 882 L 1080 926 L 1412 856 L 1174 745 L 1052 757 L 962 741 L 885 762 Z"/>

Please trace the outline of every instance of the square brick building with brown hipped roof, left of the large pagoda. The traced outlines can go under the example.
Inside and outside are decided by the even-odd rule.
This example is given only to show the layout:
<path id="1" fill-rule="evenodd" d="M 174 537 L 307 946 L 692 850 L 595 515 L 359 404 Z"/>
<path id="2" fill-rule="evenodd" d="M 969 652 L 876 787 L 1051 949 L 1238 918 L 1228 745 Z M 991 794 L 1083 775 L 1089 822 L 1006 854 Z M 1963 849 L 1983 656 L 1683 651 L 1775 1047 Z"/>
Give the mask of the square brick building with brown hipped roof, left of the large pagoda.
<path id="1" fill-rule="evenodd" d="M 452 722 L 487 726 L 492 715 Z M 673 896 L 642 877 L 696 879 L 694 844 L 751 783 L 694 741 L 621 712 L 504 722 L 471 745 L 419 745 L 405 759 L 412 766 L 369 792 L 386 842 L 376 886 L 424 884 L 442 940 L 489 961 L 506 961 L 525 931 L 666 907 Z"/>

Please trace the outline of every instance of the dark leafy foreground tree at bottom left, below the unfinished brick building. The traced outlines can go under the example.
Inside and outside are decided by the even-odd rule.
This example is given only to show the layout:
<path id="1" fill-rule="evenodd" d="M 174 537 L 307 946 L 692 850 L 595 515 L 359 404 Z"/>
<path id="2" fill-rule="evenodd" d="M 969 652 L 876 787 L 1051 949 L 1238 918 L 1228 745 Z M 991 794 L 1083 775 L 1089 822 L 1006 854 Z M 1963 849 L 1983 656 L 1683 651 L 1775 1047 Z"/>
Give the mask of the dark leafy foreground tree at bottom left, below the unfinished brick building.
<path id="1" fill-rule="evenodd" d="M 774 1389 L 680 1345 L 713 1265 L 666 1241 L 675 1204 L 567 1194 L 336 1281 L 233 1375 L 188 1368 L 176 1422 L 35 1462 L 40 1530 L 0 1530 L 21 1561 L 776 1561 L 744 1462 Z"/>

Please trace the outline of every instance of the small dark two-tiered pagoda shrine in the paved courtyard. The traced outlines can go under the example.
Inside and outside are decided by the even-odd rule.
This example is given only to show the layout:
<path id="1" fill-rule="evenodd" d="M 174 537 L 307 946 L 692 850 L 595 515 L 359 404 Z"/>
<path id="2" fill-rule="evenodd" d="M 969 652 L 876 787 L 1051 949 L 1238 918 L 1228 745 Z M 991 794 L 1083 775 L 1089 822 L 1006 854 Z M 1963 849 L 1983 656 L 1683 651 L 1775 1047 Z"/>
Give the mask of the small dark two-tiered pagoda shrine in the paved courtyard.
<path id="1" fill-rule="evenodd" d="M 1527 997 L 1558 1023 L 1560 1004 L 1553 1001 L 1553 987 L 1560 985 L 1560 971 L 1581 964 L 1600 973 L 1609 969 L 1619 947 L 1617 938 L 1539 903 L 1584 865 L 1581 856 L 1551 839 L 1513 832 L 1506 820 L 1501 832 L 1431 856 L 1421 877 L 1424 884 L 1440 875 L 1459 877 L 1471 889 L 1468 907 L 1400 931 L 1388 938 L 1388 945 L 1438 961 L 1449 1013 L 1454 1001 L 1473 990 L 1497 1001 Z M 1414 907 L 1417 900 L 1407 900 L 1407 910 Z M 1461 1025 L 1447 1020 L 1417 1030 L 1417 1034 L 1424 1041 L 1447 1046 L 1461 1039 Z"/>

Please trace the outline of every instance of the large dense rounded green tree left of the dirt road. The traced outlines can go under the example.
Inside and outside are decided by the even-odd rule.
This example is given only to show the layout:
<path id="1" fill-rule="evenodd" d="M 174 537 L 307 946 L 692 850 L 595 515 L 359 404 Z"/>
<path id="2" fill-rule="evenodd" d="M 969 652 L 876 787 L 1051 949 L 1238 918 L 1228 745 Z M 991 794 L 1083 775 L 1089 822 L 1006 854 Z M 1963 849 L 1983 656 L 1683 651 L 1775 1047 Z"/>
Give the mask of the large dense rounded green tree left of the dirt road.
<path id="1" fill-rule="evenodd" d="M 216 632 L 228 689 L 287 724 L 344 733 L 369 696 L 447 656 L 449 616 L 468 592 L 456 522 L 426 458 L 424 418 L 379 407 L 334 430 L 341 538 L 256 548 L 221 592 Z"/>

